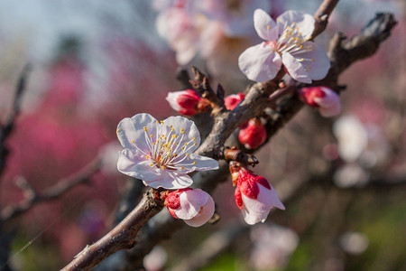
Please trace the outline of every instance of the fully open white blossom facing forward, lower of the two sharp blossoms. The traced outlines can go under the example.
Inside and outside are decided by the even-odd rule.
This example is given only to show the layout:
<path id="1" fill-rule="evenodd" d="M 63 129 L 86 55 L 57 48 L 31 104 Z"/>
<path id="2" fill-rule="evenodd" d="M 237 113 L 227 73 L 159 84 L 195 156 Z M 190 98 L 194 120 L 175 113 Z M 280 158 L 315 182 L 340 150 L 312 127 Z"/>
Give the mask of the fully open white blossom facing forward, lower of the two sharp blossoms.
<path id="1" fill-rule="evenodd" d="M 216 160 L 193 154 L 200 144 L 198 127 L 186 117 L 158 121 L 141 113 L 125 117 L 117 126 L 125 147 L 117 168 L 152 188 L 179 189 L 193 182 L 188 173 L 218 169 Z"/>

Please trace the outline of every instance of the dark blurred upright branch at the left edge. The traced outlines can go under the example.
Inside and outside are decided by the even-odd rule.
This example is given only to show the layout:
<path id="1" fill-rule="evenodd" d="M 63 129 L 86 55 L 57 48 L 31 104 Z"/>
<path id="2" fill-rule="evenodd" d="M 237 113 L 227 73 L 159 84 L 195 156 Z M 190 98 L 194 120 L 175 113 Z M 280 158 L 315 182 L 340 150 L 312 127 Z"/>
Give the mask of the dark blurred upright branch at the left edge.
<path id="1" fill-rule="evenodd" d="M 0 127 L 0 176 L 5 170 L 5 163 L 9 153 L 8 148 L 5 146 L 5 140 L 13 132 L 15 119 L 20 114 L 23 92 L 27 83 L 28 74 L 31 70 L 30 64 L 25 65 L 23 68 L 15 89 L 12 111 L 5 120 L 5 124 Z"/>

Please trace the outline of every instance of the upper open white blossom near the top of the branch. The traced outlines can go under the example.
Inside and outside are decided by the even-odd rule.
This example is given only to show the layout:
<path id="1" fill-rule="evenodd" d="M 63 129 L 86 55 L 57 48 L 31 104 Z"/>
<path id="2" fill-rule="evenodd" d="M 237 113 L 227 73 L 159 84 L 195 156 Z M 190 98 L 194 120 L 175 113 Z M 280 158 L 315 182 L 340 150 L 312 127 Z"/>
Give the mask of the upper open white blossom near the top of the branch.
<path id="1" fill-rule="evenodd" d="M 275 78 L 282 65 L 300 82 L 323 79 L 330 61 L 323 48 L 309 41 L 314 23 L 313 16 L 297 11 L 287 11 L 275 22 L 263 10 L 255 10 L 254 28 L 265 42 L 249 47 L 240 55 L 240 70 L 248 79 L 259 82 Z"/>

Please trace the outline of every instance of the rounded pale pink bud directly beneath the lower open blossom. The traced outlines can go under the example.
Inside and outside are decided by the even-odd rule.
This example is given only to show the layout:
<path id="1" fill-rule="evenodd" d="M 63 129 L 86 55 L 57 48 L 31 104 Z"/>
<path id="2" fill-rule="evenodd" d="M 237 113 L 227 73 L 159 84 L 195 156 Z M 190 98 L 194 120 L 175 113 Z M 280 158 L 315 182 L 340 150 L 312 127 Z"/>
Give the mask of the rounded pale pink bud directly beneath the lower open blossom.
<path id="1" fill-rule="evenodd" d="M 200 227 L 214 214 L 215 203 L 201 189 L 183 188 L 168 194 L 165 205 L 175 219 L 192 227 Z"/>

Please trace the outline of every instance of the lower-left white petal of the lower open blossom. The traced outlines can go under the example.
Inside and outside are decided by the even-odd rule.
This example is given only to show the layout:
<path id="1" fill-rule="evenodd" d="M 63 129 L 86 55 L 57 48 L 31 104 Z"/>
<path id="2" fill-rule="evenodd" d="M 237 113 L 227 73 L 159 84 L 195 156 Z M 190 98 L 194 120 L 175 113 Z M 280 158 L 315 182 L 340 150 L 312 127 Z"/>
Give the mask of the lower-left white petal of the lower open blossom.
<path id="1" fill-rule="evenodd" d="M 160 170 L 150 164 L 151 162 L 137 150 L 124 149 L 119 152 L 117 169 L 131 177 L 153 181 L 159 177 Z"/>

